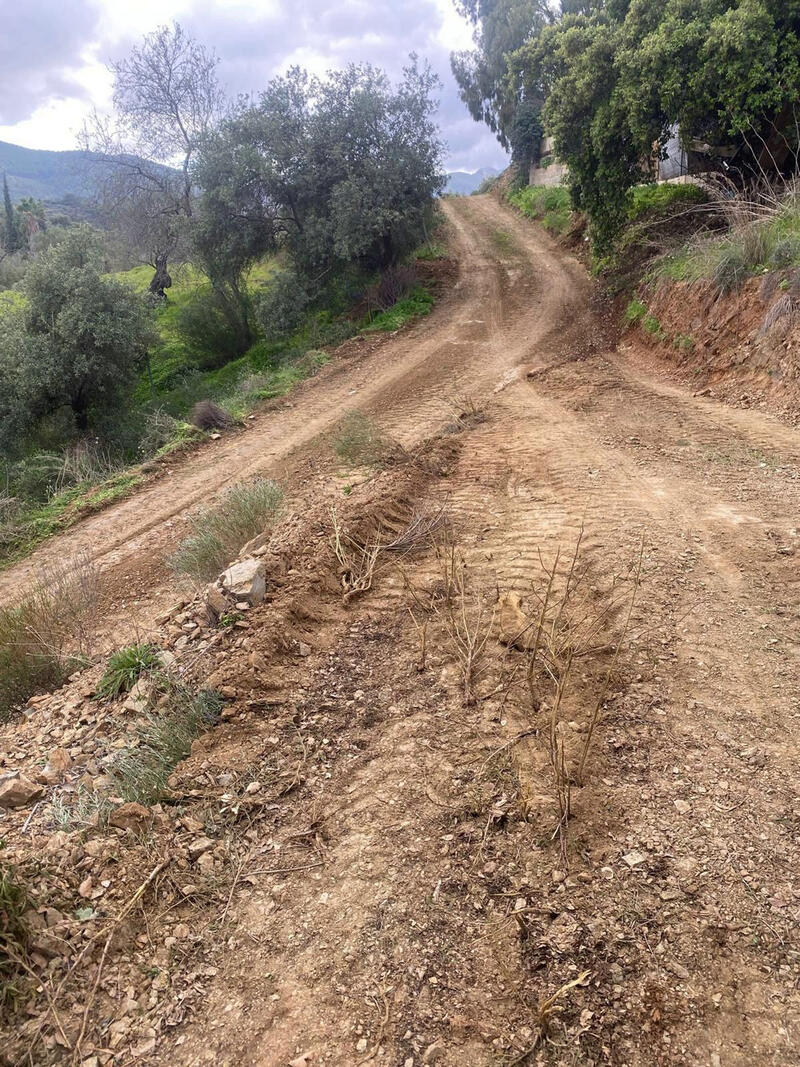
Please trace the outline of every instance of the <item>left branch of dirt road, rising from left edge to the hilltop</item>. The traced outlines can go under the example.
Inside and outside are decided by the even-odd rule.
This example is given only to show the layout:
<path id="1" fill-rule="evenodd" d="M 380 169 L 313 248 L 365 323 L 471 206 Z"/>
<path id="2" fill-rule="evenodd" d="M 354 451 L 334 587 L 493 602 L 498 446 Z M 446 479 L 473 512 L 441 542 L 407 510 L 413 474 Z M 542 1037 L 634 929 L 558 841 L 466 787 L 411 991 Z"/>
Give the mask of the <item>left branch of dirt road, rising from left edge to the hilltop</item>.
<path id="1" fill-rule="evenodd" d="M 566 323 L 567 308 L 588 292 L 587 281 L 577 264 L 549 257 L 549 242 L 533 235 L 528 240 L 538 269 L 523 272 L 522 248 L 510 238 L 515 221 L 494 201 L 464 202 L 449 219 L 464 269 L 455 291 L 429 319 L 366 355 L 355 346 L 350 359 L 305 383 L 283 410 L 177 461 L 158 482 L 0 573 L 0 603 L 22 595 L 49 560 L 86 553 L 106 573 L 107 614 L 115 599 L 123 602 L 115 632 L 126 620 L 146 628 L 172 595 L 164 558 L 191 509 L 234 481 L 266 473 L 285 477 L 302 449 L 316 447 L 350 409 L 385 416 L 387 428 L 407 445 L 442 424 L 450 398 L 507 382 L 537 338 Z M 497 235 L 502 248 L 509 245 L 507 268 L 493 252 Z"/>

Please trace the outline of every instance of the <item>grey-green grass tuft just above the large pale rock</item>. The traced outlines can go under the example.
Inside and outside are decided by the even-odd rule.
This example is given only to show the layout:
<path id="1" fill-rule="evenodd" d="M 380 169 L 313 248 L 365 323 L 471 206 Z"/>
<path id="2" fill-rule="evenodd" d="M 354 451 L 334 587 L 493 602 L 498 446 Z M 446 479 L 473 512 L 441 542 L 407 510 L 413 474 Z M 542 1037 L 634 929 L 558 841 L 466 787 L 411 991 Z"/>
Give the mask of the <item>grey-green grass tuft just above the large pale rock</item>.
<path id="1" fill-rule="evenodd" d="M 274 522 L 283 505 L 283 492 L 269 479 L 233 485 L 219 505 L 191 520 L 193 532 L 170 557 L 176 574 L 196 583 L 210 582 L 246 544 Z"/>

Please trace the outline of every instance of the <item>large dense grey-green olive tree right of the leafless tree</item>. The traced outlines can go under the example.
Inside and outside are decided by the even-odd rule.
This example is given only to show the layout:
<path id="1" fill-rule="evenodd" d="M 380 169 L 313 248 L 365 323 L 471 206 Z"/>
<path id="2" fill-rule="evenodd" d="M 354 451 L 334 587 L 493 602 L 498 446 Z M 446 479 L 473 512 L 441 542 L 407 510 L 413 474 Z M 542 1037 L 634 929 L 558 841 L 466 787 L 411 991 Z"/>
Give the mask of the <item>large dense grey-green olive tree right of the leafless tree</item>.
<path id="1" fill-rule="evenodd" d="M 342 269 L 390 266 L 421 238 L 444 186 L 437 84 L 416 59 L 398 85 L 369 65 L 275 78 L 206 138 L 198 255 L 231 328 L 244 329 L 250 265 L 283 253 L 303 299 Z"/>

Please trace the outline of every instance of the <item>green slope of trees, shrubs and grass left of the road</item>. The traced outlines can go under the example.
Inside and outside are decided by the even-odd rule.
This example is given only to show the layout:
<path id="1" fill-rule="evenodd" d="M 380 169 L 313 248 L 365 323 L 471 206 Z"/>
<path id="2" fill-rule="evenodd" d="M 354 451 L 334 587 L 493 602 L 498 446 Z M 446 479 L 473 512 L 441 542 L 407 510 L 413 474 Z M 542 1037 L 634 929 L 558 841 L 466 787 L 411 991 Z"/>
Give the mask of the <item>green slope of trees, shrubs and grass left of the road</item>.
<path id="1" fill-rule="evenodd" d="M 173 26 L 112 71 L 114 115 L 82 134 L 109 160 L 102 228 L 5 190 L 0 566 L 434 301 L 429 69 L 294 69 L 228 106 L 217 58 Z"/>

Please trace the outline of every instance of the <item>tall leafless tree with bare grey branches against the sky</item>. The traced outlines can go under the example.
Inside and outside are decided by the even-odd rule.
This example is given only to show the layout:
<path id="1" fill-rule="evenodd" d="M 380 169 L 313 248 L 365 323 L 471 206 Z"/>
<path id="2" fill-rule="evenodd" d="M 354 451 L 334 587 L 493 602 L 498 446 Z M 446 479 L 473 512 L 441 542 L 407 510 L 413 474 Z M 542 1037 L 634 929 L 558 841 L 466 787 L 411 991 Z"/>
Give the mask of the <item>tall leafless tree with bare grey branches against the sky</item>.
<path id="1" fill-rule="evenodd" d="M 113 115 L 95 112 L 81 136 L 101 157 L 106 213 L 153 266 L 150 291 L 161 298 L 192 216 L 192 157 L 223 112 L 218 62 L 177 22 L 147 34 L 111 64 Z"/>

